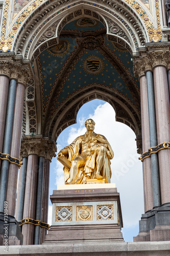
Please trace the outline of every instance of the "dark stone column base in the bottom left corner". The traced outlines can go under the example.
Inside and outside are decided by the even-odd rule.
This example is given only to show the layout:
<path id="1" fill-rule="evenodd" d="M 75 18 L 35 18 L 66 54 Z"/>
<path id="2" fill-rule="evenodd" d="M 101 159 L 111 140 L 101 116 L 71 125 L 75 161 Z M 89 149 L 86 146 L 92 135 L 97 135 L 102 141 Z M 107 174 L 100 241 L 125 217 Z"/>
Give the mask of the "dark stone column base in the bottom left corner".
<path id="1" fill-rule="evenodd" d="M 0 245 L 22 245 L 23 235 L 13 216 L 8 215 L 4 220 L 4 212 L 0 212 L 0 230 Z"/>

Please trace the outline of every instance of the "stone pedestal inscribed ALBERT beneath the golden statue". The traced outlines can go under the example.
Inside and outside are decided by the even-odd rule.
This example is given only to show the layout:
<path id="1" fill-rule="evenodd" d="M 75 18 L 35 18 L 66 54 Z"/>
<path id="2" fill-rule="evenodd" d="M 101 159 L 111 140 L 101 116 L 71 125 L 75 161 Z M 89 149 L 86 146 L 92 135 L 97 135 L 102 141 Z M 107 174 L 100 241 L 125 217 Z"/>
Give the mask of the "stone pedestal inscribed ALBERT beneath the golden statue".
<path id="1" fill-rule="evenodd" d="M 63 185 L 53 191 L 52 227 L 44 243 L 123 242 L 122 211 L 115 184 Z"/>

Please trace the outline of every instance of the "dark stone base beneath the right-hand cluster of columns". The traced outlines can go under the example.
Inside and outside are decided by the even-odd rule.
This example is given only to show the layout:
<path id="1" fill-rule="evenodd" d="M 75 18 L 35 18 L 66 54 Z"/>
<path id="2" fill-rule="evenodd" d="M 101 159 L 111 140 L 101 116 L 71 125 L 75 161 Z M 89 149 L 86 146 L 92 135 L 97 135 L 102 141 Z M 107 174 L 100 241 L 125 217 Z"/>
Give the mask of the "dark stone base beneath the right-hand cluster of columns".
<path id="1" fill-rule="evenodd" d="M 142 214 L 134 242 L 170 241 L 170 203 Z"/>

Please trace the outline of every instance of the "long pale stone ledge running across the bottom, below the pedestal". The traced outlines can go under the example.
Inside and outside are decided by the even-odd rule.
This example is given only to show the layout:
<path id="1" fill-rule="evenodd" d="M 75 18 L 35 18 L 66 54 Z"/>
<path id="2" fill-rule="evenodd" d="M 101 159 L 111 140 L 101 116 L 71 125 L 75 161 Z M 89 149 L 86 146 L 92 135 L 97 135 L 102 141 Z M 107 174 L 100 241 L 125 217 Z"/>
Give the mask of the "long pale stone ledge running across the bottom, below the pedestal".
<path id="1" fill-rule="evenodd" d="M 161 242 L 56 242 L 43 245 L 0 246 L 9 256 L 168 256 L 170 241 Z"/>

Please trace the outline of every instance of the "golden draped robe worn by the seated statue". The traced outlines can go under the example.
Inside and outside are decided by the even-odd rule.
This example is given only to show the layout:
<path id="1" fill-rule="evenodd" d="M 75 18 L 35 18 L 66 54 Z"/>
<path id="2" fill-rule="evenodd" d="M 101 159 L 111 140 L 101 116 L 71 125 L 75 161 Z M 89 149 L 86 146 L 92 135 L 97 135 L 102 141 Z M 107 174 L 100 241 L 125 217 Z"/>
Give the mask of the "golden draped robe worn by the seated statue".
<path id="1" fill-rule="evenodd" d="M 110 178 L 111 178 L 110 159 L 112 159 L 114 156 L 113 150 L 109 142 L 103 135 L 95 134 L 93 132 L 92 137 L 95 140 L 98 140 L 99 145 L 107 144 L 105 161 L 101 170 L 101 175 L 103 176 L 103 179 L 105 179 L 106 183 L 110 183 Z M 68 160 L 72 161 L 77 156 L 83 155 L 83 153 L 81 154 L 81 142 L 85 138 L 86 138 L 86 133 L 84 135 L 79 136 L 70 145 L 65 147 L 65 148 L 68 148 L 68 155 L 66 156 Z M 87 157 L 86 164 L 83 167 L 79 167 L 79 174 L 76 178 L 76 184 L 84 184 L 86 183 L 87 179 L 94 179 L 95 172 L 96 172 L 96 158 L 97 158 L 96 149 L 93 152 L 91 152 L 91 154 Z M 64 167 L 65 184 L 68 184 L 67 180 L 69 179 L 69 177 L 70 177 L 69 169 L 67 167 Z"/>

